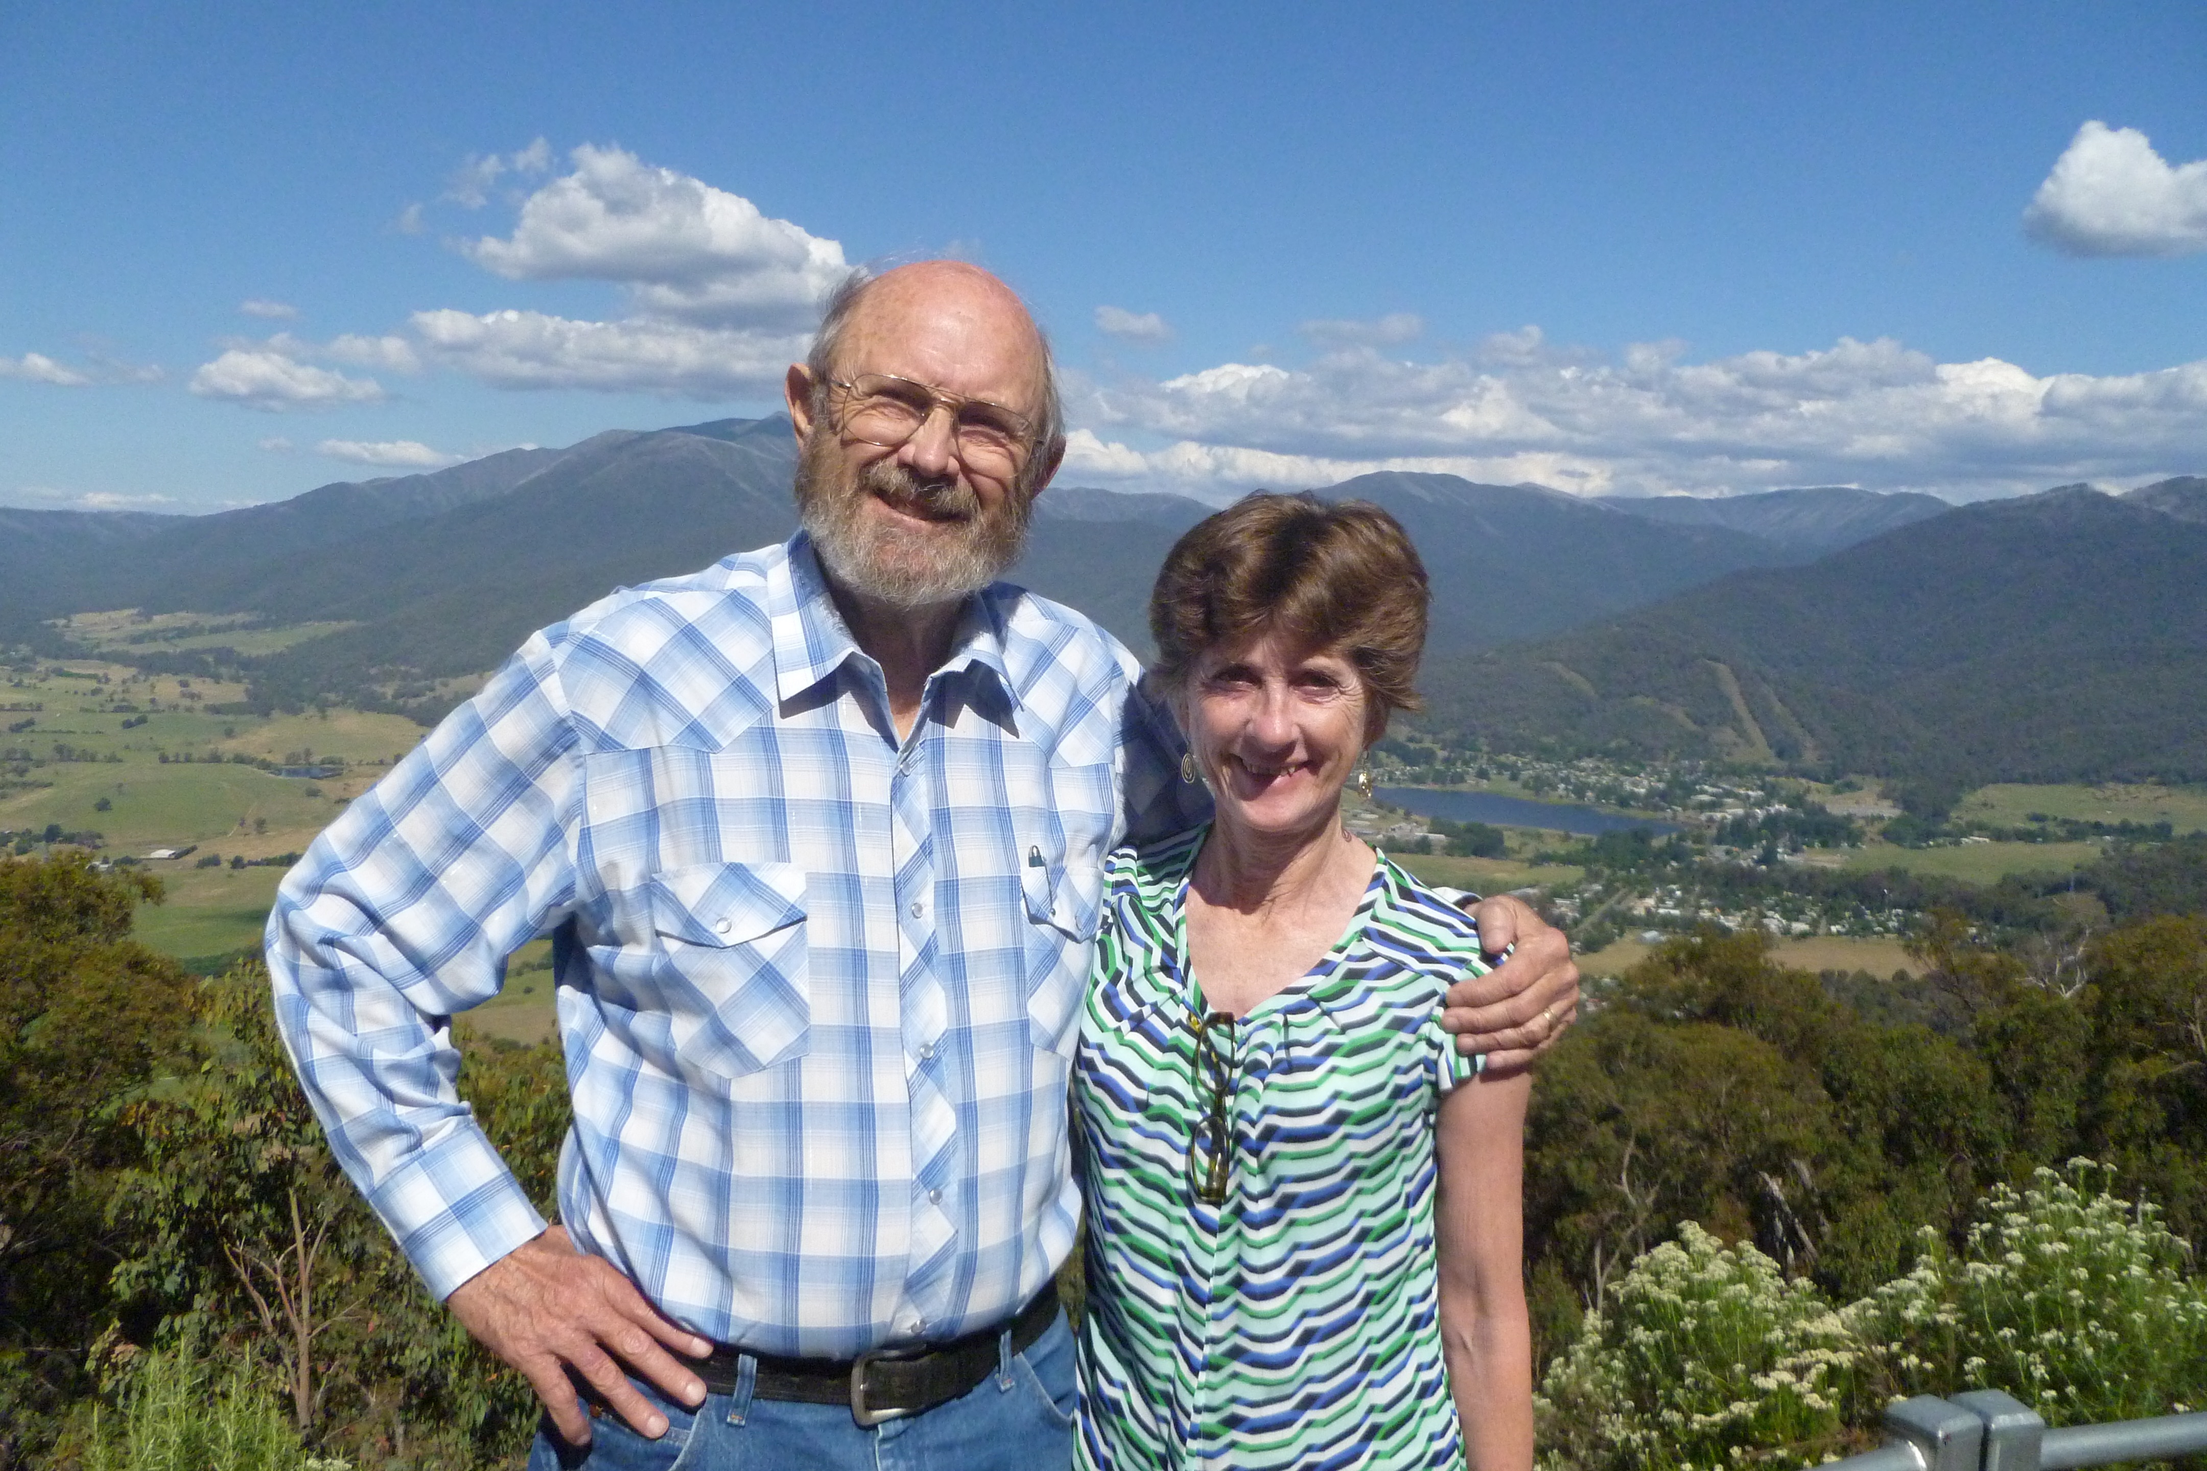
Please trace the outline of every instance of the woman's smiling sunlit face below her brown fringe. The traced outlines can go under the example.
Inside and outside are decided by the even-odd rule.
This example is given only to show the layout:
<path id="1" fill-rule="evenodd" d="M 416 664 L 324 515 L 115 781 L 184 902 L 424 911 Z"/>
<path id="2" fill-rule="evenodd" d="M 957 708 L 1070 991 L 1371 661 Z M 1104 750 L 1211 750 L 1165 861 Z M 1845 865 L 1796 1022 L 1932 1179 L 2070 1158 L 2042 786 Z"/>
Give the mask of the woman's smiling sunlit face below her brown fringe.
<path id="1" fill-rule="evenodd" d="M 1357 666 L 1280 633 L 1207 648 L 1183 726 L 1218 820 L 1291 836 L 1331 823 L 1364 754 L 1371 704 Z"/>

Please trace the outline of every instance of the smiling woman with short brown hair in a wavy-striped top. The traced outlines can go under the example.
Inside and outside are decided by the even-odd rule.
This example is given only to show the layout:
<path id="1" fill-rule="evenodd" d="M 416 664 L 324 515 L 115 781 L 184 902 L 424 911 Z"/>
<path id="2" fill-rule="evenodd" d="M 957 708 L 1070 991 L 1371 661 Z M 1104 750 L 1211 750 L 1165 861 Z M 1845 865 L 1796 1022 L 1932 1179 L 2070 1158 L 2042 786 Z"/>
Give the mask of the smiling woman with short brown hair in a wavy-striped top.
<path id="1" fill-rule="evenodd" d="M 1393 516 L 1260 494 L 1150 600 L 1216 820 L 1106 869 L 1075 1061 L 1079 1462 L 1532 1464 L 1527 1078 L 1439 1030 L 1470 920 L 1340 823 L 1426 637 Z"/>

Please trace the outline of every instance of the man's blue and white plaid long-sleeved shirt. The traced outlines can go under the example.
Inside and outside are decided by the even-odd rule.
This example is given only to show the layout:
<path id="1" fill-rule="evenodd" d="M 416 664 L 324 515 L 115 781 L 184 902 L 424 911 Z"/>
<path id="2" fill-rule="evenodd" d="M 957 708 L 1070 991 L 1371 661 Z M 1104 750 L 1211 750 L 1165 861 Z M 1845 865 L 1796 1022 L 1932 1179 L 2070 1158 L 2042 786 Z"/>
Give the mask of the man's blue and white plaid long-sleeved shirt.
<path id="1" fill-rule="evenodd" d="M 768 1354 L 1013 1314 L 1079 1220 L 1104 856 L 1207 805 L 1137 677 L 998 584 L 898 741 L 803 536 L 530 637 L 269 915 L 291 1059 L 430 1290 L 543 1228 L 455 1092 L 448 1017 L 550 931 L 580 1248 Z"/>

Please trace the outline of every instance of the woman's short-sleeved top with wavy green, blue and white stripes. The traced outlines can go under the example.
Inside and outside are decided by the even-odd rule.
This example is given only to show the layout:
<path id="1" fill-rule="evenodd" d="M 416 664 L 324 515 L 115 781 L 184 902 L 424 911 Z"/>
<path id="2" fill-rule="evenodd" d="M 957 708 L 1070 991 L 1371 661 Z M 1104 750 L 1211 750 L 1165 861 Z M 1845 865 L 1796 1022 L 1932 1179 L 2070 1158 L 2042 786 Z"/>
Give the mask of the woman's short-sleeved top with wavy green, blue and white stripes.
<path id="1" fill-rule="evenodd" d="M 1088 1206 L 1081 1467 L 1461 1467 L 1441 1361 L 1435 1116 L 1479 1072 L 1441 992 L 1485 970 L 1472 920 L 1373 869 L 1300 981 L 1209 1028 L 1187 966 L 1207 829 L 1106 865 L 1073 1087 Z M 1216 1078 L 1232 1120 L 1207 1204 Z"/>

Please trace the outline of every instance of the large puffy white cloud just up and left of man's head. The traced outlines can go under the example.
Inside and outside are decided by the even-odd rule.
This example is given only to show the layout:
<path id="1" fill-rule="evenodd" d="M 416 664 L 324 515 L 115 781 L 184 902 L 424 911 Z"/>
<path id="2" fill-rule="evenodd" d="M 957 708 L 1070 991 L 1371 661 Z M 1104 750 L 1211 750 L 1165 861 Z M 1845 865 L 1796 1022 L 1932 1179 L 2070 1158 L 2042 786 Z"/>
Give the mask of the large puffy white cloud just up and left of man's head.
<path id="1" fill-rule="evenodd" d="M 572 159 L 521 205 L 512 238 L 461 249 L 510 280 L 611 280 L 649 315 L 781 331 L 810 326 L 847 269 L 841 245 L 739 194 L 620 148 Z"/>

